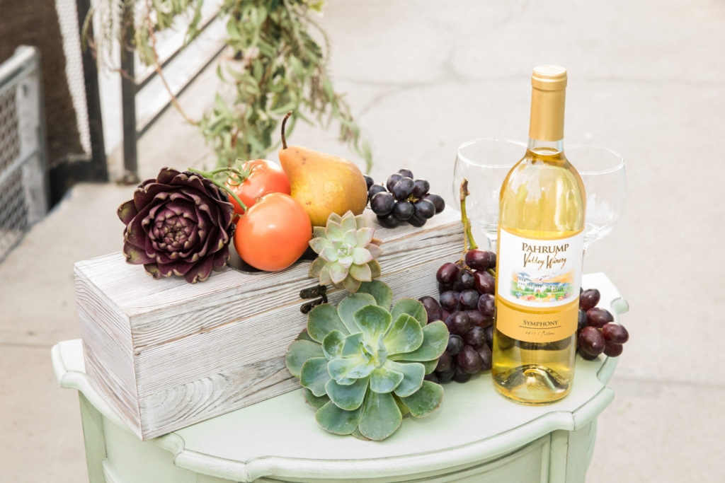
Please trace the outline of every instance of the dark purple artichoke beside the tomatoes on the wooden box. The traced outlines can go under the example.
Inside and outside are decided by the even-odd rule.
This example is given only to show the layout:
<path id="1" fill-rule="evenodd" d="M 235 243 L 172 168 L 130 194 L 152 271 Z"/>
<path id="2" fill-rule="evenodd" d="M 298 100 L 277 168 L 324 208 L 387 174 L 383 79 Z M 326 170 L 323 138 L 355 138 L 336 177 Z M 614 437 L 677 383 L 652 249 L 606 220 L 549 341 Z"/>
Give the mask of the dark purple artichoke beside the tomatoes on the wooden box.
<path id="1" fill-rule="evenodd" d="M 160 279 L 207 280 L 229 259 L 233 206 L 211 180 L 165 167 L 118 208 L 126 262 Z"/>

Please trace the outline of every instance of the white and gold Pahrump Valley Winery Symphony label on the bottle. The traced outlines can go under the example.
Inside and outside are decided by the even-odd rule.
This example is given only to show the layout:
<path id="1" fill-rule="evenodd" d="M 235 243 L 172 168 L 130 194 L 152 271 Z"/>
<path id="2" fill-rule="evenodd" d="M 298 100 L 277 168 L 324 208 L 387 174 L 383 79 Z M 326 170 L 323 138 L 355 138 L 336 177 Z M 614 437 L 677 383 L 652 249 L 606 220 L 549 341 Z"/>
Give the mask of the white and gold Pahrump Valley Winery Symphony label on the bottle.
<path id="1" fill-rule="evenodd" d="M 555 342 L 576 332 L 584 231 L 537 239 L 499 230 L 496 327 L 526 342 Z"/>

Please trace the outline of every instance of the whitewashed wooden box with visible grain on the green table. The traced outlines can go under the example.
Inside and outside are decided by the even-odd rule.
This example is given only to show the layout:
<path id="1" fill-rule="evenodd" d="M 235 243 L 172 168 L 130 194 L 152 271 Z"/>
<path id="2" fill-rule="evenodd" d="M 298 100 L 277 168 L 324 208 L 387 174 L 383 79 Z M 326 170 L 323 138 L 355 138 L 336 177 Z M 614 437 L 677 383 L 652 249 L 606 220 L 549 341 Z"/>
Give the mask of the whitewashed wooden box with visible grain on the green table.
<path id="1" fill-rule="evenodd" d="M 463 250 L 460 214 L 446 209 L 422 228 L 373 226 L 384 249 L 378 280 L 394 301 L 436 295 L 436 270 Z M 316 285 L 309 265 L 276 273 L 225 267 L 190 285 L 154 280 L 121 253 L 78 262 L 91 383 L 142 440 L 296 389 L 284 354 L 307 324 L 299 291 Z M 331 303 L 344 295 L 328 291 Z"/>

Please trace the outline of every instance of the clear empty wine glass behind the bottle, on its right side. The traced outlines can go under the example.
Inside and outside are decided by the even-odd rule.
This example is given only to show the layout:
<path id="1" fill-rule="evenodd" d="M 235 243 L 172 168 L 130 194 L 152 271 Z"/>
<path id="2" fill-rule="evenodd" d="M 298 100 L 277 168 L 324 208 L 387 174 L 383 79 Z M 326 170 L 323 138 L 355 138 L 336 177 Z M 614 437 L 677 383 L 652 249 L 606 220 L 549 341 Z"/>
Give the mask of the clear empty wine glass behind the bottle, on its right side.
<path id="1" fill-rule="evenodd" d="M 624 158 L 609 148 L 587 144 L 568 145 L 564 152 L 587 192 L 586 251 L 590 243 L 608 235 L 621 217 L 626 199 Z"/>

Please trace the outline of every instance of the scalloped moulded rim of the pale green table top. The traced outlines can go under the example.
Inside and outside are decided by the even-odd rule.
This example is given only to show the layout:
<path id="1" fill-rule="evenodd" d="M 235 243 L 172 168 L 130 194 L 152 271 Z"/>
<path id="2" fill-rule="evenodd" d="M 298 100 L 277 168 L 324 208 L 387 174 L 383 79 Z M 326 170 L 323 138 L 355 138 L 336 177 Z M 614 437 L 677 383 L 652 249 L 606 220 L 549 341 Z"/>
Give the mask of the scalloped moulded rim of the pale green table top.
<path id="1" fill-rule="evenodd" d="M 612 287 L 613 283 L 603 273 L 592 274 L 601 276 Z M 615 291 L 616 291 L 616 287 Z M 617 292 L 618 293 L 618 292 Z M 628 304 L 621 296 L 611 302 L 611 310 L 615 321 L 621 314 L 629 309 Z M 82 344 L 79 339 L 67 340 L 57 343 L 51 348 L 51 361 L 54 373 L 61 387 L 76 389 L 93 404 L 103 416 L 113 421 L 126 431 L 134 433 L 125 422 L 120 419 L 111 406 L 90 385 L 86 373 L 68 369 L 63 357 L 63 348 L 80 350 Z M 600 356 L 602 357 L 602 356 Z M 614 398 L 614 391 L 607 387 L 613 375 L 618 358 L 606 357 L 597 371 L 597 379 L 602 383 L 601 389 L 592 395 L 576 411 L 554 411 L 539 416 L 537 419 L 526 422 L 521 426 L 509 429 L 488 437 L 484 440 L 468 442 L 465 445 L 436 450 L 428 453 L 410 455 L 397 455 L 389 458 L 375 458 L 365 460 L 323 460 L 307 458 L 290 458 L 281 456 L 262 456 L 249 461 L 231 461 L 215 455 L 200 453 L 185 448 L 186 442 L 180 434 L 171 432 L 163 436 L 147 440 L 147 442 L 165 449 L 174 455 L 174 464 L 179 468 L 188 469 L 201 474 L 225 479 L 240 481 L 254 481 L 262 476 L 296 476 L 302 478 L 340 478 L 357 472 L 364 472 L 370 477 L 375 476 L 403 476 L 419 474 L 426 471 L 435 471 L 442 467 L 461 466 L 466 463 L 481 461 L 497 456 L 512 453 L 523 448 L 529 442 L 538 440 L 545 434 L 556 430 L 574 431 L 592 421 Z M 320 464 L 323 468 L 320 468 Z"/>

